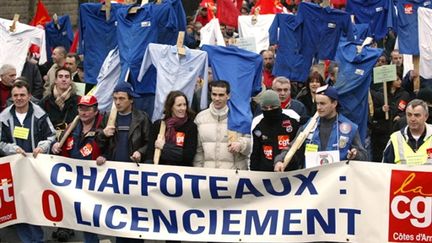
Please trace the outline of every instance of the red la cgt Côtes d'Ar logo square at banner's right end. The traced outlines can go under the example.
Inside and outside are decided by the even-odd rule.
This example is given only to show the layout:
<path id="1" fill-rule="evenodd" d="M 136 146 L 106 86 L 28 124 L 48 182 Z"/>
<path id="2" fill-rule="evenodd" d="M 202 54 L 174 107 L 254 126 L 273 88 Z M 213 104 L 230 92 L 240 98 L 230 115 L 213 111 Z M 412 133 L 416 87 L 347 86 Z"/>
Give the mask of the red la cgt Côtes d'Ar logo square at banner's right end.
<path id="1" fill-rule="evenodd" d="M 432 242 L 432 172 L 393 170 L 390 242 Z"/>

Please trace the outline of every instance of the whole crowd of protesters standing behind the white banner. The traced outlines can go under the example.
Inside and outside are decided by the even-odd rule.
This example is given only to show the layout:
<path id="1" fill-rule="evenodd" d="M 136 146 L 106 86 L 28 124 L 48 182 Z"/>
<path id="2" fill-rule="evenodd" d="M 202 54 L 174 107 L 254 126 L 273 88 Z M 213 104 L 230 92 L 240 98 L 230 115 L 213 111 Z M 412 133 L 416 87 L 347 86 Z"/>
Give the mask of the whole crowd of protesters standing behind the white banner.
<path id="1" fill-rule="evenodd" d="M 248 15 L 253 5 L 253 1 L 244 1 L 241 13 Z M 296 11 L 294 3 L 284 3 L 284 7 L 289 12 Z M 187 19 L 185 44 L 198 48 L 200 29 L 209 22 L 207 9 L 200 7 L 196 16 Z M 221 25 L 221 32 L 227 44 L 238 36 L 232 26 Z M 29 56 L 21 74 L 16 73 L 13 65 L 0 67 L 0 152 L 32 153 L 34 157 L 53 153 L 98 165 L 107 160 L 133 163 L 157 160 L 163 165 L 259 171 L 305 168 L 305 152 L 311 151 L 337 151 L 339 160 L 425 164 L 432 159 L 429 146 L 432 87 L 414 88 L 413 80 L 419 74 L 404 70 L 403 56 L 389 45 L 394 38 L 394 33 L 389 33 L 384 41 L 374 43 L 385 48 L 376 66 L 395 64 L 397 79 L 387 84 L 386 92 L 382 85 L 370 85 L 368 135 L 364 143 L 359 139 L 357 125 L 338 111 L 343 104 L 332 87 L 338 81 L 336 63 L 329 66 L 318 63 L 305 82 L 294 82 L 272 75 L 277 46 L 262 50 L 263 92 L 251 98 L 254 114 L 250 117 L 251 133 L 239 134 L 227 128 L 230 84 L 212 80 L 211 75 L 208 93 L 211 102 L 207 109 L 193 105 L 200 100 L 198 95 L 188 100 L 184 93 L 173 90 L 166 98 L 163 118 L 153 124 L 144 111 L 134 107 L 136 94 L 130 84 L 121 82 L 112 94 L 117 111 L 110 123 L 112 114 L 98 111 L 95 96 L 76 93 L 75 83 L 85 82 L 82 74 L 85 57 L 67 53 L 59 46 L 52 52 L 51 66 L 35 69 L 37 66 Z M 428 84 L 424 79 L 421 82 Z M 201 90 L 201 85 L 198 83 L 196 89 Z M 313 118 L 315 113 L 318 118 Z M 313 119 L 317 119 L 315 128 L 295 153 L 293 162 L 283 164 L 292 142 Z M 73 128 L 66 142 L 59 144 L 70 126 Z M 161 134 L 162 126 L 166 130 Z M 38 226 L 20 224 L 17 232 L 24 242 L 43 241 Z M 98 241 L 93 233 L 86 233 L 85 239 Z"/>

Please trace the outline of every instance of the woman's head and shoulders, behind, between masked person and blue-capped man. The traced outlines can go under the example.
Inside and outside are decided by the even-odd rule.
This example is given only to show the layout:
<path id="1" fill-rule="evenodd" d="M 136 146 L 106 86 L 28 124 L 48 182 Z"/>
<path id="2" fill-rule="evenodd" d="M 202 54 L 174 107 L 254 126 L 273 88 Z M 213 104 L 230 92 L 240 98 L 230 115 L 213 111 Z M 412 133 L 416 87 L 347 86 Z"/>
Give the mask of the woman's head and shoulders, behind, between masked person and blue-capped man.
<path id="1" fill-rule="evenodd" d="M 307 114 L 310 117 L 312 117 L 316 112 L 315 92 L 319 87 L 324 85 L 324 78 L 319 74 L 319 72 L 314 71 L 306 80 L 305 87 L 297 95 L 297 100 L 303 103 L 306 107 Z"/>

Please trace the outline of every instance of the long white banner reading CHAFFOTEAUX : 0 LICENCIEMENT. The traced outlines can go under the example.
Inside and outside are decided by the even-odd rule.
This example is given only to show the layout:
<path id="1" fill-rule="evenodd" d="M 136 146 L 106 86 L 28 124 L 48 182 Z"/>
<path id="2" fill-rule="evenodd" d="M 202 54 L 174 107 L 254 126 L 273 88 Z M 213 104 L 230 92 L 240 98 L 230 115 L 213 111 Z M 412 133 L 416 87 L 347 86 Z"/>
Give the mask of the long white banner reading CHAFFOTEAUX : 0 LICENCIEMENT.
<path id="1" fill-rule="evenodd" d="M 432 242 L 430 166 L 333 163 L 289 173 L 0 159 L 0 227 L 145 239 Z"/>

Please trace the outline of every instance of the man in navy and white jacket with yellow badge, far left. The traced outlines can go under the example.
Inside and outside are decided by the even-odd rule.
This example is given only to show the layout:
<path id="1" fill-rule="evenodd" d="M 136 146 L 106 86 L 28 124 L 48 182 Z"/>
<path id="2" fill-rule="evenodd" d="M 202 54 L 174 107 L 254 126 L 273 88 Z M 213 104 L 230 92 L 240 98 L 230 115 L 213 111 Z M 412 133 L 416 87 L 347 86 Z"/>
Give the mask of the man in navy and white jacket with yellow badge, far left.
<path id="1" fill-rule="evenodd" d="M 11 94 L 13 105 L 0 114 L 0 150 L 6 155 L 33 153 L 35 158 L 40 153 L 48 153 L 55 141 L 54 127 L 45 111 L 30 102 L 28 83 L 14 82 Z M 40 226 L 17 224 L 15 227 L 22 242 L 43 242 Z"/>

